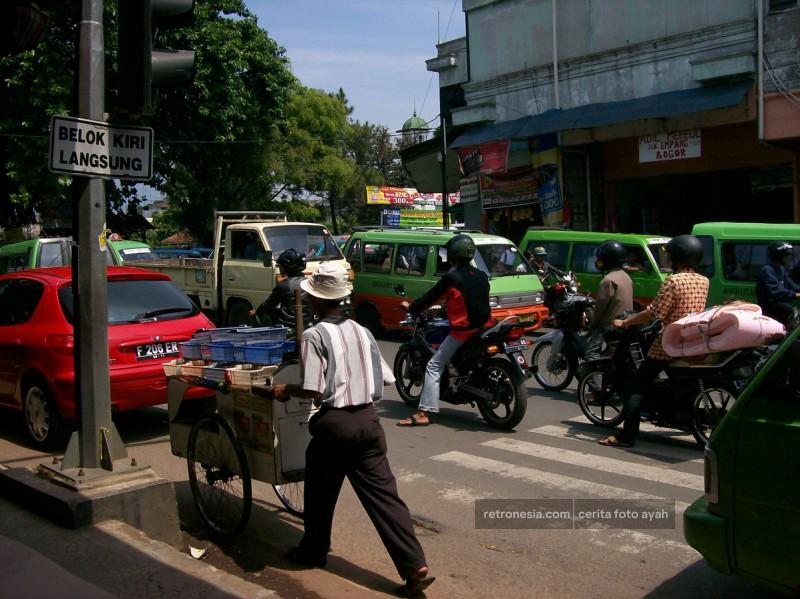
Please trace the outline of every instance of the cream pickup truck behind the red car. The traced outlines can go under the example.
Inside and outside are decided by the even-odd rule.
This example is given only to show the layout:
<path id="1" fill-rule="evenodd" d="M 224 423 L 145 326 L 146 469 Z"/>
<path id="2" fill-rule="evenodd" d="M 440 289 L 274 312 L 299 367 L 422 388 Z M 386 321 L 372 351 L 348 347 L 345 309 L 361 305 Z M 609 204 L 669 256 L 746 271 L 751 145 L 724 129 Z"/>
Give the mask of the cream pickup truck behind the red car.
<path id="1" fill-rule="evenodd" d="M 214 213 L 211 258 L 176 258 L 137 262 L 136 266 L 168 275 L 218 324 L 248 321 L 272 292 L 280 276 L 275 259 L 286 249 L 306 254 L 306 274 L 320 262 L 350 265 L 324 225 L 287 222 L 282 212 Z"/>

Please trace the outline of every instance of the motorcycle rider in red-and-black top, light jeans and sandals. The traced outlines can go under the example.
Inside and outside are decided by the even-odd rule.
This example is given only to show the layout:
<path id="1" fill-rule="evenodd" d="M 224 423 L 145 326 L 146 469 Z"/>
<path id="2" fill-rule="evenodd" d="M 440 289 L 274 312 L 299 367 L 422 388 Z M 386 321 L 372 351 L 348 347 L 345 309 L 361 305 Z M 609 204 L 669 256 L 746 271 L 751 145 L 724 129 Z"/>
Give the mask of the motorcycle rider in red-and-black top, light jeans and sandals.
<path id="1" fill-rule="evenodd" d="M 439 384 L 447 363 L 458 348 L 479 329 L 492 324 L 489 308 L 489 277 L 470 263 L 475 255 L 475 242 L 469 235 L 459 233 L 445 244 L 450 270 L 428 292 L 411 305 L 403 302 L 412 316 L 417 316 L 436 302 L 446 302 L 450 334 L 431 356 L 425 369 L 419 407 L 397 426 L 427 426 L 429 413 L 439 411 Z"/>

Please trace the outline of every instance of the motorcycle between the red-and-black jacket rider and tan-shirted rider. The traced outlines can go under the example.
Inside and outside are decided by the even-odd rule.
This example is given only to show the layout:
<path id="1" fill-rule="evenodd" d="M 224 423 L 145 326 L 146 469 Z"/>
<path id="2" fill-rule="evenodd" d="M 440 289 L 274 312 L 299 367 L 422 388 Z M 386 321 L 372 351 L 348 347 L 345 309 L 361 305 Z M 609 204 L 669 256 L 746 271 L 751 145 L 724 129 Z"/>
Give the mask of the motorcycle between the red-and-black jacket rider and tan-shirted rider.
<path id="1" fill-rule="evenodd" d="M 544 389 L 561 391 L 572 382 L 579 361 L 586 355 L 586 333 L 594 300 L 577 292 L 574 276 L 570 285 L 555 273 L 552 275 L 545 277 L 546 281 L 555 279 L 545 287 L 545 295 L 552 298 L 554 330 L 536 341 L 530 370 Z"/>

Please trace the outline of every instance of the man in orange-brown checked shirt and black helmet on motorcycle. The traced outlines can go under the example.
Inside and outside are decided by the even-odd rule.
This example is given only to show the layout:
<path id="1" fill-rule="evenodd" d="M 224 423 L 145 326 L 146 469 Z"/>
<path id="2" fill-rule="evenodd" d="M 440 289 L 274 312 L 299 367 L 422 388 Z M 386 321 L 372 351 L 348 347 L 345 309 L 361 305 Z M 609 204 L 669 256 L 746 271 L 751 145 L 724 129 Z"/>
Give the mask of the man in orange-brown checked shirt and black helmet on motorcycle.
<path id="1" fill-rule="evenodd" d="M 614 320 L 615 327 L 628 328 L 660 319 L 666 327 L 676 320 L 706 307 L 708 279 L 696 273 L 695 268 L 703 258 L 703 246 L 693 235 L 678 235 L 664 246 L 672 265 L 673 274 L 661 284 L 653 302 L 644 310 L 624 320 Z M 633 447 L 639 434 L 642 398 L 649 392 L 653 381 L 666 368 L 670 357 L 661 345 L 661 335 L 653 341 L 647 358 L 636 371 L 631 390 L 625 397 L 622 433 L 609 435 L 598 441 L 612 447 Z"/>

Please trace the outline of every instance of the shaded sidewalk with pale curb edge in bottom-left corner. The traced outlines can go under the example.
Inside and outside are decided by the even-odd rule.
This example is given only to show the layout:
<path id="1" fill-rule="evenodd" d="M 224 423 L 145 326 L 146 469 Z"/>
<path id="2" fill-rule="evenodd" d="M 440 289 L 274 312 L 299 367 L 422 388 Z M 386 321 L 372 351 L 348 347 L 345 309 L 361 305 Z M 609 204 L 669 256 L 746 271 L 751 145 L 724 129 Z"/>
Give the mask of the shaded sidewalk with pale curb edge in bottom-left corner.
<path id="1" fill-rule="evenodd" d="M 0 497 L 0 599 L 54 597 L 279 599 L 123 522 L 62 528 Z"/>

